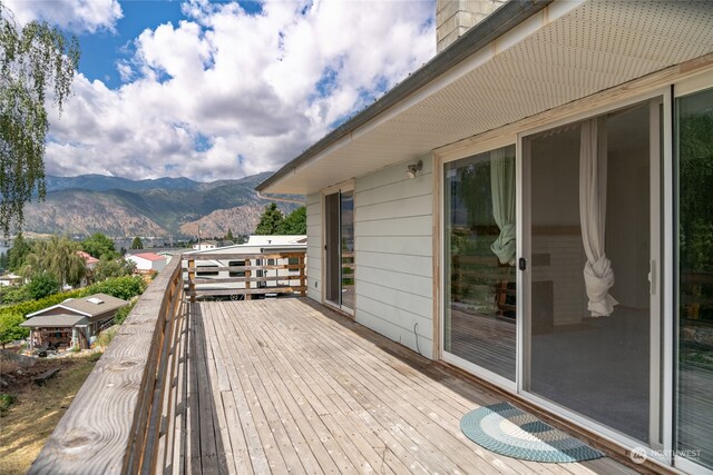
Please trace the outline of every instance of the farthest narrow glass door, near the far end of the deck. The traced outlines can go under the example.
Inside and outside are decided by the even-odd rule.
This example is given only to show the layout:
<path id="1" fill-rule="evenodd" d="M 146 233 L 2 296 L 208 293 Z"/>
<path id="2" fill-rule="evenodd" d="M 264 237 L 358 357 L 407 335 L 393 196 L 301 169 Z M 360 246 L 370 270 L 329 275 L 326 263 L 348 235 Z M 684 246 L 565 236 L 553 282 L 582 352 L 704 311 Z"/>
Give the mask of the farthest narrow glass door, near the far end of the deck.
<path id="1" fill-rule="evenodd" d="M 354 192 L 324 197 L 325 300 L 354 309 Z"/>

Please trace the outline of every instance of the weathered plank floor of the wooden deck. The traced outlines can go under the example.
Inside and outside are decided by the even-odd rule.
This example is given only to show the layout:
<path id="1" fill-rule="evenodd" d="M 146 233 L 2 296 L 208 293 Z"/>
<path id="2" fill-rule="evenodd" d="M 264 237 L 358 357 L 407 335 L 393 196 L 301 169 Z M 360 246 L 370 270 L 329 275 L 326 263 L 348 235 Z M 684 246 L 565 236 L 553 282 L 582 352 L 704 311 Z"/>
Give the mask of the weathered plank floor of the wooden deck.
<path id="1" fill-rule="evenodd" d="M 189 328 L 167 473 L 632 473 L 485 451 L 459 420 L 496 395 L 306 299 L 193 304 Z"/>

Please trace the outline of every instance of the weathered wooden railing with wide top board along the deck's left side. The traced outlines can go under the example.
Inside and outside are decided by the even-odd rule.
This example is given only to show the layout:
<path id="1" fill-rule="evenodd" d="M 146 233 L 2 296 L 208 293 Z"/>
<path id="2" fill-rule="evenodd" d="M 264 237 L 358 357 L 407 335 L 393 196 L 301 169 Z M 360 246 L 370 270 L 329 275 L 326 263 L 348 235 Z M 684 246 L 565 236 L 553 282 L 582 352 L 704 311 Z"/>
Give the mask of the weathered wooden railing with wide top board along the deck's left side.
<path id="1" fill-rule="evenodd" d="M 174 258 L 140 297 L 29 473 L 163 472 L 187 333 L 180 263 Z"/>

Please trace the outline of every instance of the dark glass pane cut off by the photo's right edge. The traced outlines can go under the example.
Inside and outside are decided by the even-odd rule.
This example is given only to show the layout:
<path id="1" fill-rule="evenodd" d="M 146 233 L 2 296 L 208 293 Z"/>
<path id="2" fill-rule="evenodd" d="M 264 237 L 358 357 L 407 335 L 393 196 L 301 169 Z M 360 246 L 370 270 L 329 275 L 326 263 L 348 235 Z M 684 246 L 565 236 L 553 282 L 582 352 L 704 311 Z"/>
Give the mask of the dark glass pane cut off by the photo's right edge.
<path id="1" fill-rule="evenodd" d="M 676 100 L 676 448 L 713 469 L 713 89 Z"/>

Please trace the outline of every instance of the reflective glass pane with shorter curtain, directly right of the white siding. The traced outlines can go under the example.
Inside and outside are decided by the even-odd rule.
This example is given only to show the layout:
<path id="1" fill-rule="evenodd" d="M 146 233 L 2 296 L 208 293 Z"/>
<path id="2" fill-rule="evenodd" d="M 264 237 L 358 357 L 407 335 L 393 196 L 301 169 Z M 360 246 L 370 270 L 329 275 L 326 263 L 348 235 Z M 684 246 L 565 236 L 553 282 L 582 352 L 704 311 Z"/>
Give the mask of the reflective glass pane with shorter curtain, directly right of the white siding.
<path id="1" fill-rule="evenodd" d="M 515 382 L 515 146 L 447 162 L 443 180 L 445 356 Z"/>

